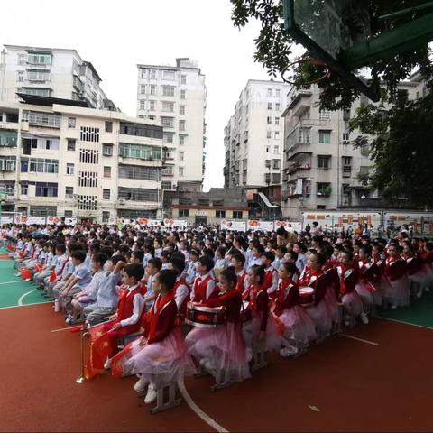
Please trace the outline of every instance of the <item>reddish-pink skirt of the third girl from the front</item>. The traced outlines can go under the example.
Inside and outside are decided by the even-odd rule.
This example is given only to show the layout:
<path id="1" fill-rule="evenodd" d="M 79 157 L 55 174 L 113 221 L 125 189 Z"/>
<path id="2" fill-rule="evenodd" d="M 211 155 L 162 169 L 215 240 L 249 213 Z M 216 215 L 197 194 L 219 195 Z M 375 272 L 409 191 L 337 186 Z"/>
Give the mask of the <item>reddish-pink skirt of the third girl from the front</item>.
<path id="1" fill-rule="evenodd" d="M 257 345 L 260 345 L 258 336 L 260 333 L 260 325 L 262 323 L 262 315 L 252 311 L 253 318 L 248 322 L 244 323 L 242 328 L 242 334 L 244 336 L 245 346 L 249 349 L 253 349 Z M 264 349 L 267 351 L 280 350 L 282 345 L 282 336 L 279 333 L 273 314 L 269 311 L 268 321 L 266 323 L 266 331 L 264 336 Z"/>

